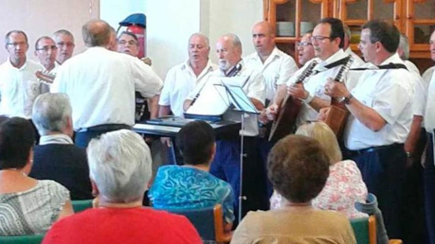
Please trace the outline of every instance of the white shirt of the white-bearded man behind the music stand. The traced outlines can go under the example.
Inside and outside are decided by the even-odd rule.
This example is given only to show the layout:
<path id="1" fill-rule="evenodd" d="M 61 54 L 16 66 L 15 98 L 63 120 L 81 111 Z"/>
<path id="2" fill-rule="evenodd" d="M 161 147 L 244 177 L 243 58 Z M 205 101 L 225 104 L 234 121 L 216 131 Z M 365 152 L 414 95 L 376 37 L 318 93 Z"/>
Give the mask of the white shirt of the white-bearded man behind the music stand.
<path id="1" fill-rule="evenodd" d="M 247 83 L 242 87 L 243 91 L 246 93 L 246 95 L 249 98 L 256 99 L 264 104 L 265 100 L 265 84 L 264 84 L 264 78 L 261 75 L 261 73 L 257 72 L 256 70 L 251 70 L 245 66 L 243 61 L 240 61 L 239 64 L 242 65 L 242 69 L 238 73 L 240 76 L 249 76 L 249 80 Z M 211 76 L 225 76 L 225 74 L 221 70 L 215 70 L 211 74 Z M 206 85 L 208 80 L 203 79 L 187 96 L 187 99 L 193 100 L 201 91 L 201 88 Z M 240 84 L 242 86 L 243 84 Z M 219 94 L 216 92 L 216 96 L 219 96 Z M 230 121 L 241 121 L 241 115 L 240 112 L 233 111 L 233 110 L 227 110 L 223 114 L 223 119 L 230 120 Z M 245 130 L 240 131 L 241 134 L 244 136 L 249 137 L 255 137 L 259 134 L 258 130 L 258 116 L 256 114 L 246 114 L 245 115 Z"/>

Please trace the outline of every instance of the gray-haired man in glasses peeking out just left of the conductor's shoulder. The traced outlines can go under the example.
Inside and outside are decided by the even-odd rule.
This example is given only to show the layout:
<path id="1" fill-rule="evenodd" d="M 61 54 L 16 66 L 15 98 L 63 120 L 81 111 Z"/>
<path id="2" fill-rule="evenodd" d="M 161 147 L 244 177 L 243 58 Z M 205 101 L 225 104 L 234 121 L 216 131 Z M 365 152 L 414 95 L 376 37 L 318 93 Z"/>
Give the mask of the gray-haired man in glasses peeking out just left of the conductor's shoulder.
<path id="1" fill-rule="evenodd" d="M 53 39 L 56 41 L 58 48 L 56 55 L 56 64 L 62 65 L 67 59 L 73 56 L 74 36 L 67 30 L 58 30 L 53 33 Z"/>

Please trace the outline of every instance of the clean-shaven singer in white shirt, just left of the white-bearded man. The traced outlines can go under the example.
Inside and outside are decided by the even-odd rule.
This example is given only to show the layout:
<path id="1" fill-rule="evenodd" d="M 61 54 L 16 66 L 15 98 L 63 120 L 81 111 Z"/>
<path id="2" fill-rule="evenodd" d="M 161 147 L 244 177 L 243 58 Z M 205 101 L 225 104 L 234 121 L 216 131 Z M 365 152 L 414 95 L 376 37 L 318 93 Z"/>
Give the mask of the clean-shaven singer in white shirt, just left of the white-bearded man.
<path id="1" fill-rule="evenodd" d="M 170 114 L 183 116 L 183 102 L 197 85 L 207 80 L 217 69 L 209 59 L 209 38 L 195 33 L 187 45 L 189 60 L 171 68 L 166 74 L 165 85 L 159 100 L 159 117 Z"/>

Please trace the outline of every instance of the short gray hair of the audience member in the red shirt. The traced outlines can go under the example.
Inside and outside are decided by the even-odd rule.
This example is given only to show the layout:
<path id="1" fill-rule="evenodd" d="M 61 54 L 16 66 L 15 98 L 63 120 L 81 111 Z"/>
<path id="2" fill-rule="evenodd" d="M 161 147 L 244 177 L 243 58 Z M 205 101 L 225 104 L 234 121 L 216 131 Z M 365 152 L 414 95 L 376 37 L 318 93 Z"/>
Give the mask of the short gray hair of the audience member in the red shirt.
<path id="1" fill-rule="evenodd" d="M 87 146 L 89 175 L 100 196 L 111 203 L 140 200 L 151 179 L 151 153 L 145 141 L 130 130 L 92 139 Z"/>

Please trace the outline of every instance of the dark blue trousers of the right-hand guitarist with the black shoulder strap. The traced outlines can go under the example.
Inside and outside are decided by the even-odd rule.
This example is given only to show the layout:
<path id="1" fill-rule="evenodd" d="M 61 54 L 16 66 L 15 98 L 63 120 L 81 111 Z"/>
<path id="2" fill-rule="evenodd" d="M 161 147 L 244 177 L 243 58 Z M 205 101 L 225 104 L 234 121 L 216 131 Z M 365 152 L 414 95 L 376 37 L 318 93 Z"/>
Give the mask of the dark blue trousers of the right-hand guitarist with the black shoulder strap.
<path id="1" fill-rule="evenodd" d="M 368 191 L 378 197 L 388 236 L 401 239 L 400 211 L 406 162 L 403 144 L 350 151 L 350 158 L 358 165 Z"/>

